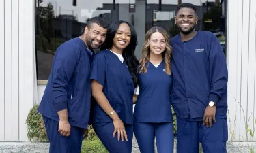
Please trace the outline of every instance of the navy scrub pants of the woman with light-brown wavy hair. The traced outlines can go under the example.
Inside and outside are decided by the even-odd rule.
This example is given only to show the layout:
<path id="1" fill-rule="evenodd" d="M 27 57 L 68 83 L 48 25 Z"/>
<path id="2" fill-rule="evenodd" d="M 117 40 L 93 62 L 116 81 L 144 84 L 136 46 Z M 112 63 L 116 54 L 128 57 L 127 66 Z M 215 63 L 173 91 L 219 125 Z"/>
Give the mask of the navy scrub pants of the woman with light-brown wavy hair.
<path id="1" fill-rule="evenodd" d="M 134 135 L 141 153 L 154 153 L 154 140 L 158 153 L 173 153 L 173 123 L 134 122 Z"/>

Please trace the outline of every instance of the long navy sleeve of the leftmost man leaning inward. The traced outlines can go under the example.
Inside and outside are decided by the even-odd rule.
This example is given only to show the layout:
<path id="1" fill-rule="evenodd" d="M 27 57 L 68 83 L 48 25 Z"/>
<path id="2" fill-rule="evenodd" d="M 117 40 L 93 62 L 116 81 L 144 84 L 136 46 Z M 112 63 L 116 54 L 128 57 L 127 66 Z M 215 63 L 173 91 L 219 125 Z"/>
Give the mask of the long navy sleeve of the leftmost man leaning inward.
<path id="1" fill-rule="evenodd" d="M 68 82 L 76 69 L 79 61 L 74 46 L 64 45 L 57 49 L 52 71 L 53 101 L 57 112 L 68 107 Z"/>

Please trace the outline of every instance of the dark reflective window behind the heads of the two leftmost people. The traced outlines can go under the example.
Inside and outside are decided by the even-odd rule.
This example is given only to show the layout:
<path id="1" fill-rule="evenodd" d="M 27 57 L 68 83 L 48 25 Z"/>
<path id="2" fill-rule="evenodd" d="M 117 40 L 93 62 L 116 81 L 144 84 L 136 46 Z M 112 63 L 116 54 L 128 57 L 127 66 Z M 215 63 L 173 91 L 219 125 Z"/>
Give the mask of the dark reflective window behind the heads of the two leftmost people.
<path id="1" fill-rule="evenodd" d="M 135 0 L 35 0 L 35 50 L 38 80 L 48 80 L 60 44 L 83 33 L 87 20 L 131 21 Z"/>

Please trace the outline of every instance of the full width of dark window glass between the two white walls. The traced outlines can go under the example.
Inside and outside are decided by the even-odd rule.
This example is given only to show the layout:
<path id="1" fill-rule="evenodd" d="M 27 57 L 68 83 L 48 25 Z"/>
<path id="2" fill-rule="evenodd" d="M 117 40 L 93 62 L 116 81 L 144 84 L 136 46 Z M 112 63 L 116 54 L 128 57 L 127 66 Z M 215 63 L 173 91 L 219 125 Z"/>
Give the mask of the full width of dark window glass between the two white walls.
<path id="1" fill-rule="evenodd" d="M 83 33 L 87 20 L 102 16 L 111 23 L 126 20 L 138 36 L 137 58 L 145 33 L 154 25 L 165 27 L 171 37 L 179 33 L 174 17 L 180 0 L 35 0 L 35 49 L 38 80 L 47 80 L 56 49 Z M 160 3 L 161 2 L 161 3 Z M 184 0 L 197 6 L 197 29 L 212 31 L 225 51 L 226 0 Z"/>

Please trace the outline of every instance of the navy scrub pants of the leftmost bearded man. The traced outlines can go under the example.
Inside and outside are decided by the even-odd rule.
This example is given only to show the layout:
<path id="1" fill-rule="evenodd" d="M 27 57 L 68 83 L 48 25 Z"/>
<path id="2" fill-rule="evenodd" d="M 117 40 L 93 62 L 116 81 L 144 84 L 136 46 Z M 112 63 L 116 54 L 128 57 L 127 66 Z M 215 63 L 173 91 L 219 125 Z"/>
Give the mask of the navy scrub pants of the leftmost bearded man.
<path id="1" fill-rule="evenodd" d="M 43 116 L 48 139 L 49 153 L 81 153 L 84 129 L 71 126 L 70 136 L 65 137 L 58 132 L 59 122 Z"/>

